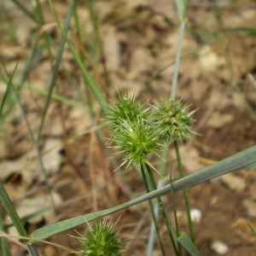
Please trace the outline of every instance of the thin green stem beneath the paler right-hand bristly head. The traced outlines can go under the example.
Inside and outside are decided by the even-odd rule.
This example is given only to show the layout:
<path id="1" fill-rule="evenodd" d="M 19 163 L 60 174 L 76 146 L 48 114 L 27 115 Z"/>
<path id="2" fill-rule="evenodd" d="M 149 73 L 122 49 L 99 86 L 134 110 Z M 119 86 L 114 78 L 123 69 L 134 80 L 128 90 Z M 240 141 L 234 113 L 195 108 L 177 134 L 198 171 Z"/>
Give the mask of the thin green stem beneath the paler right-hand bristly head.
<path id="1" fill-rule="evenodd" d="M 175 152 L 177 155 L 177 166 L 178 166 L 179 174 L 180 174 L 180 177 L 184 177 L 183 165 L 182 165 L 182 161 L 181 161 L 181 156 L 179 154 L 177 141 L 174 142 L 174 147 L 175 147 Z M 193 223 L 192 223 L 191 214 L 190 214 L 189 195 L 188 195 L 187 189 L 183 189 L 183 196 L 184 196 L 184 201 L 185 201 L 185 205 L 186 205 L 190 237 L 191 237 L 191 240 L 194 241 L 194 243 L 195 243 L 195 234 L 194 234 Z"/>

